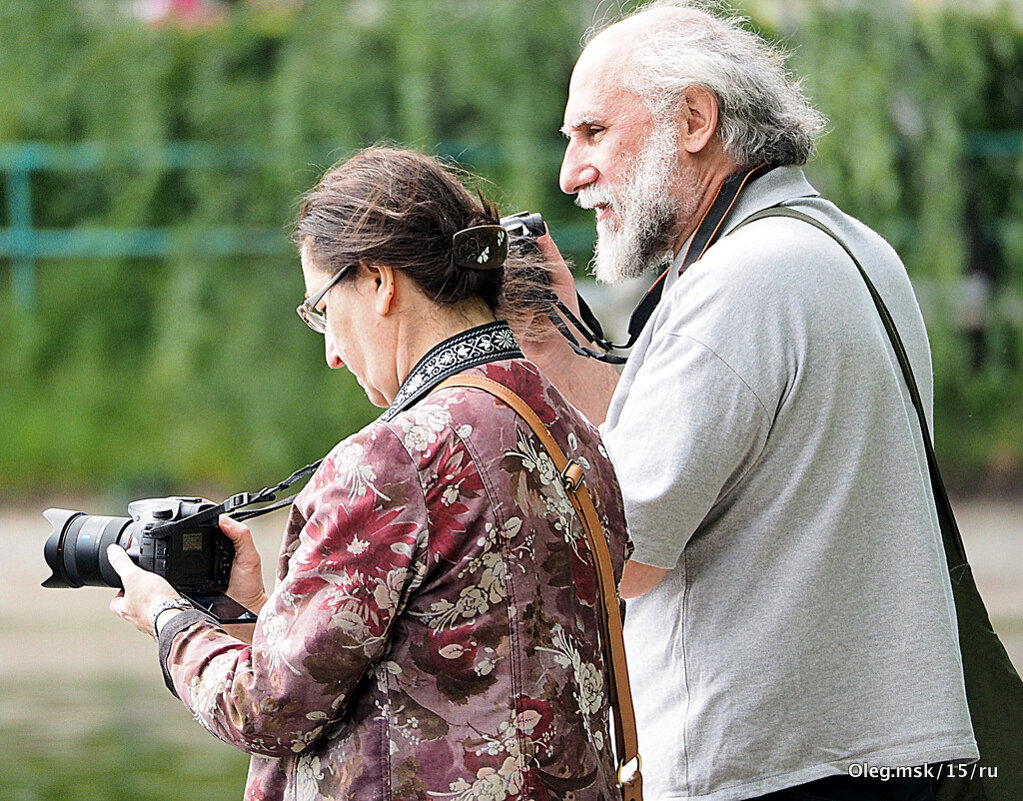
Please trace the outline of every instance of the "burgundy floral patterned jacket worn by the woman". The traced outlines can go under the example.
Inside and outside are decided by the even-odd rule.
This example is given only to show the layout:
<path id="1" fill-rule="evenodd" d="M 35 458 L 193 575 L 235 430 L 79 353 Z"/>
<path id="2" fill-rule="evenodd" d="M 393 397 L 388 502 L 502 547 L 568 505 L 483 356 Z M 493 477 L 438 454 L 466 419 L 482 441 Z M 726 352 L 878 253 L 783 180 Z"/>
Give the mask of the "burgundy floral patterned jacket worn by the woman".
<path id="1" fill-rule="evenodd" d="M 620 798 L 595 575 L 552 463 L 487 393 L 413 402 L 464 353 L 425 357 L 415 392 L 323 460 L 252 646 L 202 620 L 165 627 L 176 694 L 254 755 L 247 799 Z M 521 395 L 585 468 L 620 577 L 625 519 L 596 430 L 522 358 L 469 371 Z"/>

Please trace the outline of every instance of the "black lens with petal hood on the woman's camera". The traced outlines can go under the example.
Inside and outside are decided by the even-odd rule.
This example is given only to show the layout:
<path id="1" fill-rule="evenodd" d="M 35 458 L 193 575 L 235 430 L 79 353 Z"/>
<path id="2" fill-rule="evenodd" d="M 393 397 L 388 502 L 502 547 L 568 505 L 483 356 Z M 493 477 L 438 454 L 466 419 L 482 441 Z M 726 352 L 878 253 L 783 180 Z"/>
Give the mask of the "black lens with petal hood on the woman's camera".
<path id="1" fill-rule="evenodd" d="M 69 509 L 46 509 L 43 517 L 53 526 L 53 533 L 43 546 L 43 555 L 52 572 L 44 587 L 120 587 L 118 576 L 106 559 L 106 547 L 114 543 L 128 551 L 138 564 L 137 546 L 132 547 L 131 518 L 106 518 Z"/>

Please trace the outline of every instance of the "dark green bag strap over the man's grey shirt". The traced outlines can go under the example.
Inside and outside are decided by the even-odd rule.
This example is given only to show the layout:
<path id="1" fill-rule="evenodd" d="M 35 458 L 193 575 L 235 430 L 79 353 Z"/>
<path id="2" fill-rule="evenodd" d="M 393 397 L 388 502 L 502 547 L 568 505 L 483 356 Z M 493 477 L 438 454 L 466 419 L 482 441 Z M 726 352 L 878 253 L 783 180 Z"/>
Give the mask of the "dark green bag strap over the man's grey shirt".
<path id="1" fill-rule="evenodd" d="M 917 418 L 920 420 L 920 432 L 924 438 L 924 450 L 927 453 L 927 468 L 931 476 L 931 488 L 934 493 L 934 502 L 937 507 L 938 523 L 941 527 L 941 539 L 945 547 L 945 560 L 948 564 L 948 575 L 954 583 L 959 584 L 964 571 L 969 569 L 966 558 L 966 548 L 963 545 L 963 536 L 960 534 L 959 525 L 955 523 L 955 516 L 952 514 L 952 506 L 948 500 L 948 493 L 945 491 L 945 483 L 942 481 L 941 472 L 938 470 L 938 459 L 934 455 L 934 443 L 931 441 L 930 429 L 927 427 L 927 415 L 924 411 L 924 402 L 920 398 L 920 390 L 917 387 L 917 380 L 913 374 L 913 366 L 909 364 L 909 357 L 905 352 L 905 346 L 902 344 L 902 338 L 899 337 L 898 329 L 895 327 L 895 321 L 892 319 L 891 313 L 888 311 L 888 307 L 881 298 L 881 294 L 871 281 L 870 276 L 866 274 L 866 270 L 863 269 L 863 265 L 861 265 L 859 260 L 853 255 L 849 246 L 847 246 L 831 228 L 819 220 L 810 217 L 808 214 L 803 214 L 802 212 L 785 206 L 774 206 L 770 209 L 764 209 L 756 214 L 750 215 L 737 225 L 731 230 L 731 233 L 735 233 L 744 225 L 749 225 L 751 222 L 754 222 L 755 220 L 762 220 L 765 217 L 789 217 L 812 225 L 814 228 L 828 234 L 832 239 L 838 242 L 842 250 L 844 250 L 846 254 L 848 254 L 849 258 L 852 259 L 852 263 L 856 265 L 856 269 L 859 271 L 860 277 L 866 284 L 866 288 L 871 294 L 871 299 L 874 301 L 878 314 L 881 316 L 881 322 L 884 323 L 885 330 L 888 332 L 888 339 L 891 341 L 892 349 L 895 351 L 895 358 L 898 360 L 899 367 L 902 368 L 902 376 L 905 379 L 906 387 L 909 390 L 909 398 L 913 400 L 914 408 L 917 410 Z"/>

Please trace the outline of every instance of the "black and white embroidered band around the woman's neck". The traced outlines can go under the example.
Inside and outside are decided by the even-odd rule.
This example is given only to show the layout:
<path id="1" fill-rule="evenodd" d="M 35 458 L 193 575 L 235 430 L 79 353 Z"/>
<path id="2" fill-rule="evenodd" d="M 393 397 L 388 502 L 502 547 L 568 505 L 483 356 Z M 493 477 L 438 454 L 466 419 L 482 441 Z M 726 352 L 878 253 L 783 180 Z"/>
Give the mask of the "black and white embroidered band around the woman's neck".
<path id="1" fill-rule="evenodd" d="M 456 333 L 431 348 L 408 373 L 382 418 L 390 420 L 415 404 L 449 375 L 503 359 L 522 359 L 519 343 L 503 320 Z"/>

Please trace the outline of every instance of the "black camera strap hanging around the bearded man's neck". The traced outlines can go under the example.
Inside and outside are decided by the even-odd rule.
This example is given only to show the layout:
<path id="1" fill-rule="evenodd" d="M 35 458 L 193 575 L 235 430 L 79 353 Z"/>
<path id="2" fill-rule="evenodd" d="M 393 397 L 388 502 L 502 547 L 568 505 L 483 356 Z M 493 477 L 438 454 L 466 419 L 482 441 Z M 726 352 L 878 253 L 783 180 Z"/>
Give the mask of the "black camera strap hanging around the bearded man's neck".
<path id="1" fill-rule="evenodd" d="M 679 275 L 685 272 L 685 270 L 687 270 L 690 265 L 694 262 L 699 261 L 707 252 L 707 249 L 717 241 L 718 237 L 721 235 L 721 226 L 724 223 L 725 218 L 728 216 L 728 213 L 735 207 L 740 192 L 742 192 L 742 190 L 750 182 L 769 172 L 771 169 L 772 168 L 766 164 L 762 164 L 759 167 L 754 167 L 752 170 L 733 173 L 725 179 L 724 183 L 722 183 L 718 188 L 714 202 L 710 205 L 706 214 L 704 214 L 703 219 L 700 220 L 700 224 L 697 226 L 696 231 L 690 239 L 690 244 L 685 249 L 685 255 L 682 257 L 682 261 L 678 267 Z M 576 340 L 576 338 L 569 331 L 565 321 L 555 313 L 554 308 L 548 308 L 547 316 L 549 316 L 554 325 L 558 326 L 562 336 L 569 341 L 569 345 L 572 347 L 572 350 L 580 356 L 588 356 L 591 359 L 597 359 L 598 361 L 608 362 L 610 364 L 623 364 L 625 362 L 625 357 L 617 356 L 609 353 L 609 351 L 628 350 L 635 345 L 643 326 L 651 318 L 651 315 L 654 314 L 654 310 L 657 308 L 657 305 L 661 302 L 661 296 L 664 293 L 665 279 L 668 277 L 673 268 L 673 264 L 669 265 L 668 268 L 661 273 L 658 279 L 654 281 L 651 287 L 647 291 L 642 300 L 640 300 L 636 307 L 632 310 L 632 315 L 629 317 L 629 339 L 628 342 L 622 345 L 616 345 L 605 338 L 599 321 L 596 319 L 596 316 L 578 292 L 576 293 L 576 298 L 579 302 L 579 313 L 583 318 L 582 320 L 576 317 L 576 315 L 574 315 L 565 306 L 565 304 L 558 299 L 553 292 L 550 293 L 552 298 L 549 299 L 551 305 L 555 307 L 557 310 L 560 311 L 570 323 L 572 323 L 576 330 L 582 333 L 587 340 L 593 342 L 598 348 L 601 348 L 602 351 L 604 351 L 604 353 L 580 345 L 578 340 Z"/>

